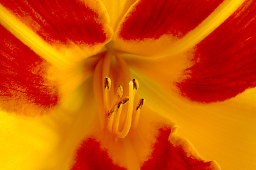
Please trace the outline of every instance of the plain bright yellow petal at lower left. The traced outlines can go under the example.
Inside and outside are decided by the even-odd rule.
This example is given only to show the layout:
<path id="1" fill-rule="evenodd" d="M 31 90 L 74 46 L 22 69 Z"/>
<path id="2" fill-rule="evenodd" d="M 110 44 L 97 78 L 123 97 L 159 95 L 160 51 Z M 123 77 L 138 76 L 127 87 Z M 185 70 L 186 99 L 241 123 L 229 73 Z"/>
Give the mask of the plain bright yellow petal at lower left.
<path id="1" fill-rule="evenodd" d="M 92 79 L 58 110 L 38 118 L 0 112 L 0 169 L 68 169 L 95 116 Z"/>

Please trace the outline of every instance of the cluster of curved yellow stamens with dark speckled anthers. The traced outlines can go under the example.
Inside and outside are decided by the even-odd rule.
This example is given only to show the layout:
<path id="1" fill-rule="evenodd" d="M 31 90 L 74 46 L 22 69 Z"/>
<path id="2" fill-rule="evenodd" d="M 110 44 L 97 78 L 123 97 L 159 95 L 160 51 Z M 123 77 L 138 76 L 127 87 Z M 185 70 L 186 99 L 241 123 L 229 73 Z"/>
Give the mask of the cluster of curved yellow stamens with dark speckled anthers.
<path id="1" fill-rule="evenodd" d="M 144 99 L 141 98 L 137 105 L 135 97 L 139 89 L 137 79 L 132 79 L 128 84 L 128 96 L 124 96 L 124 89 L 121 85 L 110 102 L 111 79 L 105 77 L 103 80 L 103 98 L 105 108 L 105 129 L 116 139 L 131 135 L 139 123 L 139 115 L 142 110 Z"/>

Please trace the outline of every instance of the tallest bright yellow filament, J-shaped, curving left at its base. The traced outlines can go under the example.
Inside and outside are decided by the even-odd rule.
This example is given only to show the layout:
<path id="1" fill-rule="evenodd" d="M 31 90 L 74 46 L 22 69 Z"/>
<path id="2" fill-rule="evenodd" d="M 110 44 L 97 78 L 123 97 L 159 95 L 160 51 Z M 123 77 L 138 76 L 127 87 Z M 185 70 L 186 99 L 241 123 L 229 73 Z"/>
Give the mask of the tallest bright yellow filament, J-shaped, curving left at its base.
<path id="1" fill-rule="evenodd" d="M 129 82 L 129 103 L 128 103 L 128 109 L 127 114 L 125 116 L 124 121 L 124 128 L 121 132 L 117 132 L 117 136 L 119 138 L 124 138 L 127 136 L 131 125 L 132 125 L 132 112 L 133 112 L 133 106 L 134 106 L 134 83 L 133 81 Z"/>

